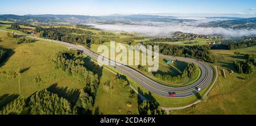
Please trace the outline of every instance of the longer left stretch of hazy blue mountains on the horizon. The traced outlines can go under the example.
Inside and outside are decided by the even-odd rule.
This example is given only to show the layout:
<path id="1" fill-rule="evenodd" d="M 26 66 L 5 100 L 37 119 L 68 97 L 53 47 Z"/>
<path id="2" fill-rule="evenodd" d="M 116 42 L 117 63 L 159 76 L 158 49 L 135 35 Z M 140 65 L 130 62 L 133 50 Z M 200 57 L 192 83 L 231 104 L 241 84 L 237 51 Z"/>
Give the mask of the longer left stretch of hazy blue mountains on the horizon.
<path id="1" fill-rule="evenodd" d="M 152 21 L 152 22 L 184 22 L 192 21 L 188 19 L 175 19 L 174 16 L 159 16 L 159 15 L 108 15 L 108 16 L 88 16 L 88 15 L 0 15 L 2 20 L 18 20 L 18 21 L 39 21 L 39 22 L 72 22 L 85 23 L 86 20 L 94 22 L 125 22 L 125 20 L 133 21 Z"/>

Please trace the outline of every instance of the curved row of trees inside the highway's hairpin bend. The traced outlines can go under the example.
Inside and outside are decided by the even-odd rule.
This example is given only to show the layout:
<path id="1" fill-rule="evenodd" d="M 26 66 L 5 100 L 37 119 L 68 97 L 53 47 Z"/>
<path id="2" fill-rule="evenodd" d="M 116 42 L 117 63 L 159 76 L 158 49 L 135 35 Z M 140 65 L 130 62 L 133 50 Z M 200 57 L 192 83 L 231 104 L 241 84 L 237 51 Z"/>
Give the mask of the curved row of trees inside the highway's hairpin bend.
<path id="1" fill-rule="evenodd" d="M 172 77 L 169 74 L 155 74 L 155 77 L 166 82 L 184 82 L 187 78 L 195 78 L 199 74 L 199 67 L 196 64 L 189 64 L 181 75 Z"/>

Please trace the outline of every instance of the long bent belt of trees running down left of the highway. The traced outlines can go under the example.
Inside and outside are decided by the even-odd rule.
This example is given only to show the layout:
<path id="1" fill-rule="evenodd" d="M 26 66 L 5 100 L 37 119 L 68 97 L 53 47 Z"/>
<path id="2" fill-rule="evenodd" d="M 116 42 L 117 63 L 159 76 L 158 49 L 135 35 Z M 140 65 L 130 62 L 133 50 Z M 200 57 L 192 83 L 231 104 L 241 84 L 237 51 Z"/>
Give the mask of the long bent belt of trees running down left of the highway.
<path id="1" fill-rule="evenodd" d="M 85 81 L 85 87 L 80 91 L 79 100 L 75 110 L 79 114 L 92 114 L 92 107 L 98 88 L 98 75 L 85 68 L 85 62 L 76 57 L 79 51 L 69 50 L 56 54 L 52 60 L 57 69 L 63 70 L 68 75 L 73 75 L 81 81 Z"/>

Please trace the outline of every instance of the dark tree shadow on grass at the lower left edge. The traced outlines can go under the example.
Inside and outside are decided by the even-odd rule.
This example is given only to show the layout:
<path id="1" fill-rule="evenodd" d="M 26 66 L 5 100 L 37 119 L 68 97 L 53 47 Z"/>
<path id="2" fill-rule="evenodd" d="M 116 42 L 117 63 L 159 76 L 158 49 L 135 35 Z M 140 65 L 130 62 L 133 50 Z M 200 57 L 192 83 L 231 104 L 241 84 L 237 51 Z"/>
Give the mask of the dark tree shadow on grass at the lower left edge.
<path id="1" fill-rule="evenodd" d="M 19 97 L 18 94 L 4 94 L 0 96 L 0 111 L 5 107 L 7 104 L 10 104 L 13 102 L 15 99 Z"/>

